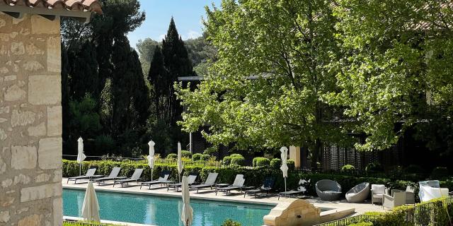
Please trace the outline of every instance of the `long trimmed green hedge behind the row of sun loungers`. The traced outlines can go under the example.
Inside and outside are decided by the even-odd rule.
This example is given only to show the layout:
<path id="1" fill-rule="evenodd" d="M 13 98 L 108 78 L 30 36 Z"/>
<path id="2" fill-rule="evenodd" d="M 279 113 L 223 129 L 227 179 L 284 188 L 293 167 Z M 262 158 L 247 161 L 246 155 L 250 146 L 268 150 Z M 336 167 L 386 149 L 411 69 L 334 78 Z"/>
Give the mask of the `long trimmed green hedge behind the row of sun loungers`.
<path id="1" fill-rule="evenodd" d="M 110 174 L 113 167 L 121 167 L 121 176 L 131 177 L 134 169 L 143 168 L 144 172 L 142 178 L 145 180 L 151 179 L 151 169 L 145 163 L 124 163 L 124 162 L 113 162 L 113 161 L 86 161 L 82 164 L 82 173 L 85 173 L 90 167 L 96 167 L 96 174 Z M 63 177 L 74 177 L 79 175 L 79 164 L 76 161 L 63 160 Z M 153 179 L 159 177 L 162 170 L 170 170 L 171 178 L 178 178 L 178 171 L 176 165 L 161 165 L 156 164 L 153 170 Z M 199 181 L 204 182 L 207 178 L 207 174 L 210 172 L 218 172 L 217 183 L 230 183 L 234 181 L 236 174 L 243 174 L 246 178 L 246 185 L 248 186 L 261 186 L 265 177 L 275 177 L 275 189 L 280 191 L 285 188 L 284 179 L 282 177 L 282 171 L 274 165 L 274 167 L 258 167 L 250 169 L 248 167 L 239 168 L 215 168 L 215 167 L 185 167 L 183 173 L 197 173 L 200 177 Z M 338 174 L 321 174 L 321 173 L 306 173 L 292 171 L 291 167 L 287 178 L 287 188 L 297 189 L 299 179 L 310 180 L 307 194 L 316 195 L 314 185 L 321 179 L 332 179 L 336 180 L 341 184 L 343 193 L 347 192 L 353 186 L 362 182 L 369 182 L 370 184 L 385 184 L 390 189 L 403 189 L 406 190 L 406 186 L 417 186 L 418 184 L 411 181 L 403 180 L 391 180 L 386 178 L 375 178 L 375 177 L 357 177 L 349 175 L 338 175 Z M 447 187 L 453 190 L 453 180 L 446 180 L 441 182 L 442 187 Z M 416 191 L 418 192 L 418 191 Z"/>

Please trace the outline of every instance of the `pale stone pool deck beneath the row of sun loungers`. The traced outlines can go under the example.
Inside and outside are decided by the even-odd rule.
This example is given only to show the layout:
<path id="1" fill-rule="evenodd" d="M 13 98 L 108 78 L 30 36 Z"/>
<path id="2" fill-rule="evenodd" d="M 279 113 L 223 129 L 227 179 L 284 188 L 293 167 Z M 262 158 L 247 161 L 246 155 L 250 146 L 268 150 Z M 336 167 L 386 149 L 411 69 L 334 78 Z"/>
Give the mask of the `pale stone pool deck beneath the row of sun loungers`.
<path id="1" fill-rule="evenodd" d="M 67 184 L 67 178 L 62 179 L 63 188 L 67 189 L 86 189 L 88 181 L 80 180 L 77 181 L 77 184 L 74 182 L 69 182 Z M 139 185 L 135 183 L 130 183 L 130 186 L 125 186 L 121 188 L 119 185 L 113 187 L 113 182 L 107 184 L 101 184 L 99 186 L 97 183 L 94 184 L 94 187 L 97 191 L 114 191 L 114 192 L 123 192 L 129 194 L 151 194 L 157 196 L 171 196 L 171 197 L 180 197 L 180 191 L 176 192 L 175 190 L 167 191 L 166 187 L 160 188 L 160 186 L 151 187 L 151 190 L 147 186 L 139 189 Z M 253 203 L 253 204 L 265 204 L 265 205 L 277 205 L 277 203 L 285 201 L 288 198 L 281 197 L 280 201 L 277 199 L 277 195 L 265 196 L 253 198 L 253 196 L 243 197 L 243 194 L 239 194 L 237 191 L 233 191 L 229 196 L 225 196 L 223 193 L 218 193 L 215 195 L 214 190 L 206 189 L 200 190 L 198 194 L 196 191 L 190 191 L 190 198 L 194 199 L 204 199 L 211 201 L 229 201 L 229 202 L 240 202 L 240 203 Z M 336 209 L 345 209 L 345 208 L 355 208 L 355 213 L 352 215 L 360 215 L 369 211 L 378 211 L 384 212 L 386 209 L 383 209 L 382 206 L 372 205 L 369 201 L 366 203 L 348 203 L 345 199 L 340 201 L 322 201 L 319 198 L 304 198 L 306 201 L 314 204 L 314 206 L 319 208 L 336 208 Z"/>

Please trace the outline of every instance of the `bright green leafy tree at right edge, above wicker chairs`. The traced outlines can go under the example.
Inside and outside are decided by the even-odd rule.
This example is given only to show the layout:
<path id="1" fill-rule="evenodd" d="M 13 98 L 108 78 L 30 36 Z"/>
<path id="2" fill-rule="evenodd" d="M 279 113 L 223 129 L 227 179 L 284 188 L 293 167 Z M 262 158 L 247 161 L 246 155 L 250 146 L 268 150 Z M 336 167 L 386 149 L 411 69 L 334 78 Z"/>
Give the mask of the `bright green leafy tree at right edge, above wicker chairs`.
<path id="1" fill-rule="evenodd" d="M 357 119 L 360 150 L 394 145 L 432 107 L 452 102 L 452 9 L 447 1 L 338 1 L 343 57 L 338 92 L 326 96 Z M 429 105 L 427 105 L 429 102 Z M 421 127 L 420 127 L 421 128 Z"/>

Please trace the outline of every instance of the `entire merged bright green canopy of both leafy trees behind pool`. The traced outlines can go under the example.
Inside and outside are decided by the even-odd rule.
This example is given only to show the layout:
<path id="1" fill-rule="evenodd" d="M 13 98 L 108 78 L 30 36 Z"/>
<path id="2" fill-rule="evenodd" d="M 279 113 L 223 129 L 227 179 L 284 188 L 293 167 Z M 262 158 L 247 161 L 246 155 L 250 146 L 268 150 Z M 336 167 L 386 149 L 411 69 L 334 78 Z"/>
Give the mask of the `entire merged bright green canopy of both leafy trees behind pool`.
<path id="1" fill-rule="evenodd" d="M 215 145 L 301 145 L 312 163 L 320 143 L 389 148 L 451 106 L 448 3 L 223 0 L 205 22 L 219 59 L 195 91 L 178 86 L 180 124 L 210 125 Z"/>

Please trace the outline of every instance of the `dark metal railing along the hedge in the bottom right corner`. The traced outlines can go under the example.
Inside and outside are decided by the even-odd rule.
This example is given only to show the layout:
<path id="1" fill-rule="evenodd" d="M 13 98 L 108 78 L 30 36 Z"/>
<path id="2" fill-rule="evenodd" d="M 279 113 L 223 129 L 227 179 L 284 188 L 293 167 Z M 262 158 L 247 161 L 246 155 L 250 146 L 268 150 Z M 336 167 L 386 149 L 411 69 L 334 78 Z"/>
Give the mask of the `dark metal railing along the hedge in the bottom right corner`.
<path id="1" fill-rule="evenodd" d="M 405 222 L 412 223 L 413 225 L 444 225 L 445 222 L 436 222 L 438 220 L 437 216 L 445 211 L 452 211 L 453 208 L 453 197 L 445 198 L 439 201 L 432 201 L 430 203 L 423 203 L 415 206 L 414 208 L 408 208 L 403 211 L 403 220 Z M 391 214 L 391 213 L 386 213 Z M 453 222 L 453 216 L 449 215 L 447 212 L 447 217 L 449 219 L 449 224 Z M 378 216 L 374 215 L 356 215 L 349 218 L 343 218 L 340 220 L 333 220 L 331 222 L 324 222 L 315 226 L 347 226 L 351 224 L 356 224 L 359 222 L 372 222 L 377 220 Z M 447 223 L 447 225 L 449 225 Z"/>

